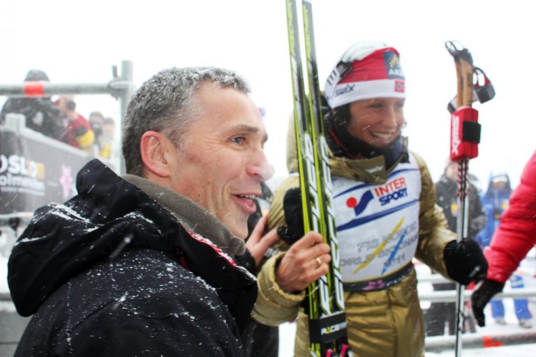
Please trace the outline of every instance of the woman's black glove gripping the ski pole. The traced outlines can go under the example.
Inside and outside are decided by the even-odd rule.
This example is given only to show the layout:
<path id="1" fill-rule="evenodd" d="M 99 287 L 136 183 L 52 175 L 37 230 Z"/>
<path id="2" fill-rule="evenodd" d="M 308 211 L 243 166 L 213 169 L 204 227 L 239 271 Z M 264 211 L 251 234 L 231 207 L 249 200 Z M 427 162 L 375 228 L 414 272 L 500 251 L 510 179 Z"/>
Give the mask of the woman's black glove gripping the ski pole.
<path id="1" fill-rule="evenodd" d="M 443 256 L 452 280 L 467 285 L 473 280 L 486 278 L 488 262 L 478 243 L 472 239 L 450 241 L 443 250 Z"/>

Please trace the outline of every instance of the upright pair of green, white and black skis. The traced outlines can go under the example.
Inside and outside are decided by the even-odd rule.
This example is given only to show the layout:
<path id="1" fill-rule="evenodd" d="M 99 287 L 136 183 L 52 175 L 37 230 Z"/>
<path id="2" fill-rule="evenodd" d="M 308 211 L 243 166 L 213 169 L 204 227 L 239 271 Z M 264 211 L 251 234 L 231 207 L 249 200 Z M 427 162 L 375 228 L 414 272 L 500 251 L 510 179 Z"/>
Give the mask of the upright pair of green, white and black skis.
<path id="1" fill-rule="evenodd" d="M 296 0 L 285 0 L 304 231 L 318 231 L 332 248 L 329 271 L 307 289 L 311 356 L 353 356 L 348 347 L 343 283 L 332 203 L 310 0 L 302 0 L 308 95 L 304 89 Z"/>

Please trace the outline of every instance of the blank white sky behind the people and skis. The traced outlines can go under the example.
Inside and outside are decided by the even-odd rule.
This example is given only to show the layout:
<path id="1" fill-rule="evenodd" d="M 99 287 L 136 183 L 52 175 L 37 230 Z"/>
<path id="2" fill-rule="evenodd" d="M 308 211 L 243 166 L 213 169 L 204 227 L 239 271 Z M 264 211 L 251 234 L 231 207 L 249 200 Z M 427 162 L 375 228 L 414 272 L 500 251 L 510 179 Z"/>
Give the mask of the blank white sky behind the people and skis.
<path id="1" fill-rule="evenodd" d="M 401 52 L 411 149 L 433 179 L 449 151 L 447 102 L 456 91 L 446 40 L 459 40 L 489 76 L 496 98 L 475 105 L 482 123 L 481 154 L 470 169 L 484 181 L 507 170 L 514 185 L 536 149 L 533 113 L 533 3 L 531 1 L 314 1 L 320 82 L 357 40 L 384 40 Z M 285 176 L 285 131 L 292 107 L 283 0 L 66 1 L 3 0 L 0 83 L 45 70 L 53 82 L 107 82 L 111 66 L 133 61 L 139 86 L 170 66 L 237 70 L 267 110 L 267 154 Z M 0 98 L 0 104 L 3 98 Z M 80 96 L 80 112 L 119 116 L 105 96 Z"/>

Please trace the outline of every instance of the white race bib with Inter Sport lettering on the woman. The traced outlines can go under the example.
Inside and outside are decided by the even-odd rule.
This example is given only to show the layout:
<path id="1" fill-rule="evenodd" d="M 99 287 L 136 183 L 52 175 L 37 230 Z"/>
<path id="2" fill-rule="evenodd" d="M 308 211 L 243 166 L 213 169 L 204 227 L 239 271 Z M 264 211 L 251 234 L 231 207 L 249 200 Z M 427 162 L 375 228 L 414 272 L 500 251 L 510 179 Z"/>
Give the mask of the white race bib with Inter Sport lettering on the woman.
<path id="1" fill-rule="evenodd" d="M 343 282 L 395 273 L 415 255 L 421 176 L 415 158 L 399 164 L 386 183 L 334 177 L 334 207 Z"/>

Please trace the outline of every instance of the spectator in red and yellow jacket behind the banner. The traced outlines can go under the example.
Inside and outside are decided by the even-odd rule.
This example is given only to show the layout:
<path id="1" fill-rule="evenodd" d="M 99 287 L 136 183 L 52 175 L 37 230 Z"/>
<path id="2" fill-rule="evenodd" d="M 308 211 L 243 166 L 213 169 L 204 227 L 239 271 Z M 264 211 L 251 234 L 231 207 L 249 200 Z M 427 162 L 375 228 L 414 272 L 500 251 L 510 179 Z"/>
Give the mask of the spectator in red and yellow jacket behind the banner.
<path id="1" fill-rule="evenodd" d="M 95 134 L 82 114 L 76 111 L 73 96 L 62 96 L 57 101 L 59 114 L 67 119 L 66 130 L 61 141 L 89 152 L 95 141 Z"/>

